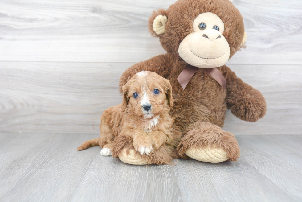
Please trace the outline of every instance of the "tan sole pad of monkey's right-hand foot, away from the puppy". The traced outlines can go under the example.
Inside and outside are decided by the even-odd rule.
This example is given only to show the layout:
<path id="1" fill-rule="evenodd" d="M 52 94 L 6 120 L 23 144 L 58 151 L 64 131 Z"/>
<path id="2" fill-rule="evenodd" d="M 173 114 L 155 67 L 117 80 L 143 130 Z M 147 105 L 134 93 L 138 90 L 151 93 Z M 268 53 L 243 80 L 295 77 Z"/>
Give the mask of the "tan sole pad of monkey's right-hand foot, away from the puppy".
<path id="1" fill-rule="evenodd" d="M 198 161 L 211 163 L 219 163 L 229 159 L 227 152 L 222 148 L 188 148 L 186 155 Z"/>

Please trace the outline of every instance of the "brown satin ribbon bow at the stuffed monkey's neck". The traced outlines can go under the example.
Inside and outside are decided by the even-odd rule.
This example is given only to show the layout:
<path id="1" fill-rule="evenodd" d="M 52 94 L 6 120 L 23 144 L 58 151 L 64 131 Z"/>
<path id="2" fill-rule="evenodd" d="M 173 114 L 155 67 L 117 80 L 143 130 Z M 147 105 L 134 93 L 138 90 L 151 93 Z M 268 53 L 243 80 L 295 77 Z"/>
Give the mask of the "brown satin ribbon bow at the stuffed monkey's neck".
<path id="1" fill-rule="evenodd" d="M 198 70 L 198 67 L 194 67 L 188 64 L 180 73 L 177 80 L 182 86 L 182 89 L 185 89 L 195 72 Z M 217 68 L 205 68 L 208 72 L 224 89 L 226 89 L 227 81 L 222 75 L 222 73 Z"/>

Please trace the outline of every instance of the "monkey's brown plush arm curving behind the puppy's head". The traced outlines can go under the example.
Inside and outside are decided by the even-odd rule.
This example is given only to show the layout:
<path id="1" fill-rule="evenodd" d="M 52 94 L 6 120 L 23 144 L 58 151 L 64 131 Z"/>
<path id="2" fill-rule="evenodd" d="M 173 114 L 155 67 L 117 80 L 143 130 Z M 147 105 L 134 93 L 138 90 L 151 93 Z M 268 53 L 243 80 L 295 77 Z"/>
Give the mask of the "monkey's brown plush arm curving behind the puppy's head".
<path id="1" fill-rule="evenodd" d="M 150 71 L 156 72 L 160 76 L 167 78 L 170 74 L 169 64 L 174 61 L 173 55 L 166 53 L 163 55 L 158 55 L 148 60 L 133 64 L 129 67 L 120 77 L 119 88 L 120 93 L 122 93 L 122 86 L 127 83 L 127 81 L 137 72 L 140 71 Z"/>

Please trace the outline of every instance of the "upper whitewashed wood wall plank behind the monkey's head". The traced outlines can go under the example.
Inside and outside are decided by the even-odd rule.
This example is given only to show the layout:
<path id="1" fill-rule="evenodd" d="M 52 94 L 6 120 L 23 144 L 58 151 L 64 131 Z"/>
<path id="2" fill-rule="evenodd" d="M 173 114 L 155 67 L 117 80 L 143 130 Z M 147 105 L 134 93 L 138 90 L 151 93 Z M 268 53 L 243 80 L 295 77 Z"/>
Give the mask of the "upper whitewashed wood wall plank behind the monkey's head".
<path id="1" fill-rule="evenodd" d="M 164 53 L 148 33 L 174 0 L 1 0 L 0 61 L 140 62 Z M 302 1 L 235 0 L 247 48 L 232 64 L 301 64 Z"/>

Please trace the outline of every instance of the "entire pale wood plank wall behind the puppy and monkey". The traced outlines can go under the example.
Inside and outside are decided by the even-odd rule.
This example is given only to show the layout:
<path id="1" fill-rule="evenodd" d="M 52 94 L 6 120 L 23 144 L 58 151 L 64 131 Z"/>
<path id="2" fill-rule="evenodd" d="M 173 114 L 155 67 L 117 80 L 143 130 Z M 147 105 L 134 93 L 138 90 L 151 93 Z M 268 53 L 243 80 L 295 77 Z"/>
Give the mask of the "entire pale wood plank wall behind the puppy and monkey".
<path id="1" fill-rule="evenodd" d="M 121 101 L 126 68 L 162 54 L 152 10 L 173 0 L 0 0 L 0 132 L 99 133 Z M 228 66 L 267 100 L 267 115 L 237 134 L 302 134 L 302 1 L 234 0 L 247 48 Z"/>

